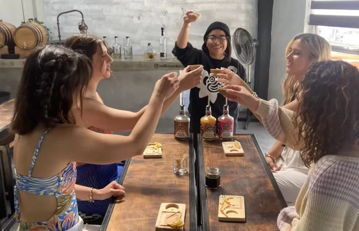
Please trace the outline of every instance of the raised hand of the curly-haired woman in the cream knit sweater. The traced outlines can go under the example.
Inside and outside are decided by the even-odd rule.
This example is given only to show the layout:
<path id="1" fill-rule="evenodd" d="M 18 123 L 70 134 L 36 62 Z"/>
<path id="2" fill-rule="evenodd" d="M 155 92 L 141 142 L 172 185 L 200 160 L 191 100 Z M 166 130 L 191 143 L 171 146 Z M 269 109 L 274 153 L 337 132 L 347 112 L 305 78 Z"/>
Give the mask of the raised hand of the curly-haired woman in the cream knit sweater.
<path id="1" fill-rule="evenodd" d="M 245 87 L 226 85 L 224 89 L 227 90 L 227 99 L 237 102 L 251 111 L 257 110 L 261 100 L 254 97 Z"/>

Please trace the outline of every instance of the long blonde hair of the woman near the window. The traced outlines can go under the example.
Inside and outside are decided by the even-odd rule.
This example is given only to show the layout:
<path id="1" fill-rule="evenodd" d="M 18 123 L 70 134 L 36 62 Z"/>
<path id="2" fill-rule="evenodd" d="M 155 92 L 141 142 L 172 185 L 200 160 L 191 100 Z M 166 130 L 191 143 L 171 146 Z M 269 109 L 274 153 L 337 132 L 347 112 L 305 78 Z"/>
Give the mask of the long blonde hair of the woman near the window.
<path id="1" fill-rule="evenodd" d="M 287 45 L 286 48 L 286 57 L 290 53 L 289 50 L 292 47 L 292 44 L 296 40 L 301 40 L 309 51 L 310 59 L 314 62 L 329 60 L 331 56 L 331 47 L 330 44 L 320 35 L 303 33 L 296 35 Z M 299 87 L 298 78 L 294 74 L 286 74 L 284 83 L 283 83 L 283 94 L 284 100 L 283 105 L 286 105 L 291 102 L 293 95 L 295 93 L 295 88 Z M 297 91 L 299 92 L 299 90 Z"/>

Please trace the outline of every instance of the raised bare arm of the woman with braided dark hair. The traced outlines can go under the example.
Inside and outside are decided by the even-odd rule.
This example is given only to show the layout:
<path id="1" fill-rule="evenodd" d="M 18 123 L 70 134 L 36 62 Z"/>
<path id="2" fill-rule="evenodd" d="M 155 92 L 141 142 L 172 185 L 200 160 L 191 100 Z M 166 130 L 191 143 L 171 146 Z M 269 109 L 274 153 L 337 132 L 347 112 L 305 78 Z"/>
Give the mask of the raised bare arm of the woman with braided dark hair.
<path id="1" fill-rule="evenodd" d="M 146 111 L 127 137 L 97 133 L 78 126 L 64 127 L 64 133 L 59 136 L 68 147 L 64 153 L 66 161 L 110 164 L 141 155 L 153 136 L 163 102 L 178 88 L 178 84 L 175 72 L 157 81 Z"/>

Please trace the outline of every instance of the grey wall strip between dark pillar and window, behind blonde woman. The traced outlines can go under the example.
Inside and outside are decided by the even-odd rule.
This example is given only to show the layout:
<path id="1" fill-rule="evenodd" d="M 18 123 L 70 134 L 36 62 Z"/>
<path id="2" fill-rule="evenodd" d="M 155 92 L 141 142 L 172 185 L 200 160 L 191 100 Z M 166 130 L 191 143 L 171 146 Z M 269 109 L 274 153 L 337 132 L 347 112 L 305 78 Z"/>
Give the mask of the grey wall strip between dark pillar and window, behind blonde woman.
<path id="1" fill-rule="evenodd" d="M 303 32 L 305 12 L 306 0 L 274 1 L 268 99 L 283 100 L 282 84 L 287 63 L 285 49 L 296 34 Z"/>

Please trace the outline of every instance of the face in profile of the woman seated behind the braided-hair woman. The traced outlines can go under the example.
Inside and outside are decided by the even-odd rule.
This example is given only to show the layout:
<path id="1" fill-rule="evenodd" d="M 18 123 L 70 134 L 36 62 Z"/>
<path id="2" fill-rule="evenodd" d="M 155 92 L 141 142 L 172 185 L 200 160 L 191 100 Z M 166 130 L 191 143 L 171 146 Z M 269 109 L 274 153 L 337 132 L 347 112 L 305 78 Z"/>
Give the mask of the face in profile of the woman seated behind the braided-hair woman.
<path id="1" fill-rule="evenodd" d="M 92 76 L 99 76 L 101 79 L 109 78 L 111 76 L 110 65 L 112 63 L 111 56 L 107 53 L 107 48 L 101 44 L 101 49 L 97 47 L 96 53 L 92 56 L 93 74 Z"/>

